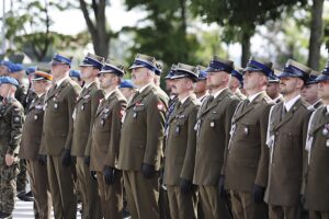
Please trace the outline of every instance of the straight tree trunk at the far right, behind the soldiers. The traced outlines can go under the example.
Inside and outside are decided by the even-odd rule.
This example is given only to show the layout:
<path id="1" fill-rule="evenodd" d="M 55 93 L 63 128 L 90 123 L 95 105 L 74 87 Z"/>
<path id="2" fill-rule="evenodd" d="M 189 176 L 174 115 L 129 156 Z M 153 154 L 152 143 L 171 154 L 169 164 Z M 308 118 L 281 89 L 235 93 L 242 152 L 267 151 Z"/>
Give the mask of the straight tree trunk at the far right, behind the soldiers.
<path id="1" fill-rule="evenodd" d="M 313 0 L 311 21 L 310 21 L 310 37 L 308 45 L 308 66 L 313 69 L 319 69 L 320 47 L 322 43 L 322 11 L 324 0 Z"/>

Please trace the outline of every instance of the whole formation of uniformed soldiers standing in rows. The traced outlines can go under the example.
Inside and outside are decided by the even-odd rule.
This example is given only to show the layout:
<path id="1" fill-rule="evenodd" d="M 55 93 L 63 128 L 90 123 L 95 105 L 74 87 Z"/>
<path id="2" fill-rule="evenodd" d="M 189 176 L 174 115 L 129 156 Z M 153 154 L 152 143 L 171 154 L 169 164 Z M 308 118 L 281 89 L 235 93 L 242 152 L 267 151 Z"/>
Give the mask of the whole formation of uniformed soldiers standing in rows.
<path id="1" fill-rule="evenodd" d="M 41 219 L 329 218 L 329 61 L 179 62 L 167 93 L 151 56 L 131 80 L 110 57 L 71 66 L 0 64 L 0 218 L 27 180 Z"/>

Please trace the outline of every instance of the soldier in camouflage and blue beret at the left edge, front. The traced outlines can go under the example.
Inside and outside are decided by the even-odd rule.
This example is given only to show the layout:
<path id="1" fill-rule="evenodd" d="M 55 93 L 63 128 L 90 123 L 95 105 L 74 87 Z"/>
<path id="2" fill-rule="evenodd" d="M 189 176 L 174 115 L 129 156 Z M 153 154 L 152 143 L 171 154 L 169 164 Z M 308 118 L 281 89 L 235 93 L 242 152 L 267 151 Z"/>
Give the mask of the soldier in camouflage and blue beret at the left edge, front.
<path id="1" fill-rule="evenodd" d="M 24 108 L 14 97 L 19 82 L 10 77 L 0 79 L 0 217 L 10 217 L 14 209 L 19 145 L 21 142 Z"/>

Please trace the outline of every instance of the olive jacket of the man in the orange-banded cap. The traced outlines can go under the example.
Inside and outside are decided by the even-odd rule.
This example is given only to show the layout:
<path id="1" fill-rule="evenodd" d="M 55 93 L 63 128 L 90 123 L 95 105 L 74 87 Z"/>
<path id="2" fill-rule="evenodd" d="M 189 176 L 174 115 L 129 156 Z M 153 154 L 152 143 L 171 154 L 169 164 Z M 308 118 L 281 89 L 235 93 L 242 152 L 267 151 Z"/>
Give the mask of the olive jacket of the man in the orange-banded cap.
<path id="1" fill-rule="evenodd" d="M 20 158 L 35 160 L 41 147 L 43 122 L 44 122 L 44 100 L 45 95 L 35 97 L 26 112 L 26 119 L 23 126 Z"/>

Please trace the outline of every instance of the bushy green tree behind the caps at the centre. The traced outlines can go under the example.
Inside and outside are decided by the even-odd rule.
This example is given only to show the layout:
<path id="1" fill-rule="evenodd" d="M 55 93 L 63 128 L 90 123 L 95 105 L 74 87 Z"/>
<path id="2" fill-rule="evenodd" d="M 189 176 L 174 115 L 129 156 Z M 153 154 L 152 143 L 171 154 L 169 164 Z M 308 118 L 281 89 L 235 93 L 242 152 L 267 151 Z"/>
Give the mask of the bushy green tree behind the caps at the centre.
<path id="1" fill-rule="evenodd" d="M 128 10 L 141 9 L 147 16 L 139 21 L 143 27 L 125 28 L 134 33 L 132 55 L 149 54 L 167 66 L 175 62 L 196 64 L 197 38 L 188 33 L 189 13 L 186 0 L 125 0 Z"/>

